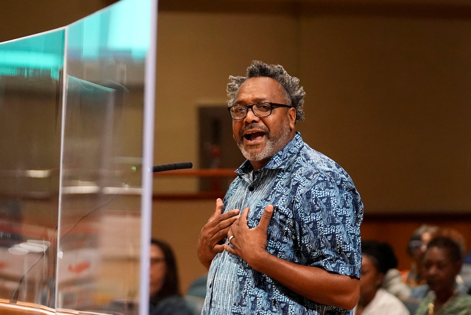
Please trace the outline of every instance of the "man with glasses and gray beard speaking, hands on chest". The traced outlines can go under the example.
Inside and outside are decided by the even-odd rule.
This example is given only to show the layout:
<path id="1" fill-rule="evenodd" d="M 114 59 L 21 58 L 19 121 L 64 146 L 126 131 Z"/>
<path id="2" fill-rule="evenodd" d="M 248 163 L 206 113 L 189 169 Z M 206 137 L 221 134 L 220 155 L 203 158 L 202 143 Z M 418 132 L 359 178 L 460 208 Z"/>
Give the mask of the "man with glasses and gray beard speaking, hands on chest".
<path id="1" fill-rule="evenodd" d="M 305 92 L 281 65 L 229 77 L 235 142 L 247 158 L 198 241 L 203 315 L 351 314 L 363 204 L 347 172 L 303 142 Z"/>

